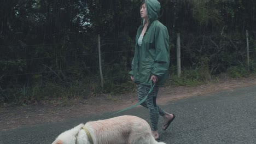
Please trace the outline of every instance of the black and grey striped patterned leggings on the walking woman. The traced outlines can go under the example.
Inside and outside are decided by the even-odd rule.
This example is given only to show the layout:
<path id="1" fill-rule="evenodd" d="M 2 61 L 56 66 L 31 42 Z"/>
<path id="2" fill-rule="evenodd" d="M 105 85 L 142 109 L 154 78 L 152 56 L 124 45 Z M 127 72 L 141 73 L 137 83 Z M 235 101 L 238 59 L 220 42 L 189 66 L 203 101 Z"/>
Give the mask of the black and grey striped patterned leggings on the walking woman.
<path id="1" fill-rule="evenodd" d="M 150 125 L 152 130 L 158 130 L 158 119 L 159 115 L 164 116 L 165 111 L 156 104 L 156 96 L 158 95 L 158 86 L 153 88 L 153 91 L 148 95 L 148 98 L 141 104 L 142 106 L 146 107 L 149 111 L 149 118 L 150 118 Z M 142 85 L 139 84 L 137 86 L 138 92 L 138 100 L 141 101 L 144 97 L 147 96 L 150 90 L 149 85 Z"/>

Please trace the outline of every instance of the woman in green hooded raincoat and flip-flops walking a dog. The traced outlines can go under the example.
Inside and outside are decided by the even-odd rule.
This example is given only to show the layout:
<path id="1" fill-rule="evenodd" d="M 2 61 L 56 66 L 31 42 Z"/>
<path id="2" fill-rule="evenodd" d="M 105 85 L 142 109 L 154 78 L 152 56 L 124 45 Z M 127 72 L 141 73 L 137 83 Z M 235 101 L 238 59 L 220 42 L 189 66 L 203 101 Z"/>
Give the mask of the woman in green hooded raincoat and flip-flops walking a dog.
<path id="1" fill-rule="evenodd" d="M 156 104 L 159 86 L 167 80 L 170 64 L 169 35 L 167 28 L 158 21 L 160 9 L 161 5 L 156 0 L 146 0 L 141 5 L 142 23 L 137 31 L 135 55 L 129 73 L 137 83 L 139 101 L 148 95 L 151 81 L 155 83 L 153 91 L 141 105 L 149 110 L 152 135 L 156 140 L 159 140 L 159 115 L 164 117 L 162 130 L 166 130 L 175 118 Z"/>

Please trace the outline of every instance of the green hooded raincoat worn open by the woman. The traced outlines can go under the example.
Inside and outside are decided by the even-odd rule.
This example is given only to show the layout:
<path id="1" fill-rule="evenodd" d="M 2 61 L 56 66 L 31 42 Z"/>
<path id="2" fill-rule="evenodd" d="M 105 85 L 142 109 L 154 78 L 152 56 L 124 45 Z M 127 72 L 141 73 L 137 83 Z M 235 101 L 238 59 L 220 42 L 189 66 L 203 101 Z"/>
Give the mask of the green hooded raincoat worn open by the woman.
<path id="1" fill-rule="evenodd" d="M 138 38 L 143 29 L 143 20 L 136 35 L 135 54 L 132 59 L 130 75 L 135 82 L 150 85 L 150 77 L 158 76 L 156 85 L 164 85 L 168 78 L 170 64 L 169 35 L 167 28 L 158 21 L 160 3 L 156 0 L 146 0 L 148 14 L 148 28 L 144 34 L 142 45 L 138 45 Z"/>

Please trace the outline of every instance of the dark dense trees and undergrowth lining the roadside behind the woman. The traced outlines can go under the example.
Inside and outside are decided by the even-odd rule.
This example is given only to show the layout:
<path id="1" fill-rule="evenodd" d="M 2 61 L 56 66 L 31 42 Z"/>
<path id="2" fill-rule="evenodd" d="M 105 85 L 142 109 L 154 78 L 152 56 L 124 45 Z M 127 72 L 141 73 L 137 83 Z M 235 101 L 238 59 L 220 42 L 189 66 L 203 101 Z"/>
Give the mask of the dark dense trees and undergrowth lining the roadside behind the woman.
<path id="1" fill-rule="evenodd" d="M 170 34 L 170 81 L 195 86 L 255 72 L 256 2 L 159 0 Z M 0 103 L 51 103 L 135 91 L 128 71 L 139 0 L 0 2 Z M 246 30 L 249 32 L 248 72 Z M 182 76 L 176 76 L 181 33 Z M 104 89 L 98 64 L 98 34 Z M 68 100 L 67 100 L 68 101 Z"/>

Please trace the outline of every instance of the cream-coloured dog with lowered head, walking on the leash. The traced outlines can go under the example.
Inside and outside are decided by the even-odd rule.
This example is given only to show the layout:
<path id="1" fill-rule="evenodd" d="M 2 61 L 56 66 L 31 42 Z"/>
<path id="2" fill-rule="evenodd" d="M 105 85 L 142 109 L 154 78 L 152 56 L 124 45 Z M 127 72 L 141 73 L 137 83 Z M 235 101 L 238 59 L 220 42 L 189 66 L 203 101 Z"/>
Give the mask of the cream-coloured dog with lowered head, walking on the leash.
<path id="1" fill-rule="evenodd" d="M 136 116 L 90 121 L 60 134 L 52 144 L 166 144 L 154 139 L 148 122 Z"/>

